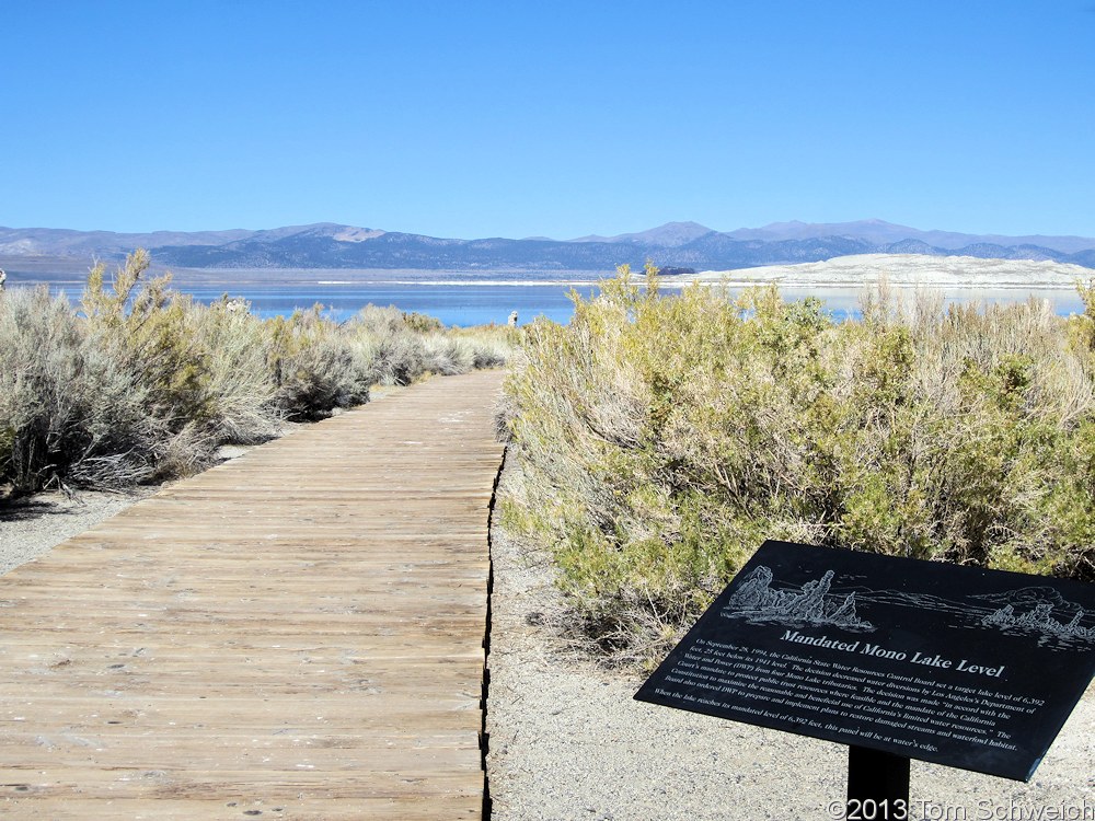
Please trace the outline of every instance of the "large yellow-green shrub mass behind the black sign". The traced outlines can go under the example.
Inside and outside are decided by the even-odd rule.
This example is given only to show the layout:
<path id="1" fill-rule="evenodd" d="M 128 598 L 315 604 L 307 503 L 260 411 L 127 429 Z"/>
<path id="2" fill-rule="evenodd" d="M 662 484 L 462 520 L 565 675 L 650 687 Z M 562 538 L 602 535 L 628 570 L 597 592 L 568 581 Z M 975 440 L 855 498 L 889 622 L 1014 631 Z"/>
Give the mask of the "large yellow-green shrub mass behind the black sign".
<path id="1" fill-rule="evenodd" d="M 764 539 L 1095 579 L 1095 332 L 1040 302 L 647 292 L 625 269 L 525 329 L 504 521 L 587 635 L 672 640 Z"/>

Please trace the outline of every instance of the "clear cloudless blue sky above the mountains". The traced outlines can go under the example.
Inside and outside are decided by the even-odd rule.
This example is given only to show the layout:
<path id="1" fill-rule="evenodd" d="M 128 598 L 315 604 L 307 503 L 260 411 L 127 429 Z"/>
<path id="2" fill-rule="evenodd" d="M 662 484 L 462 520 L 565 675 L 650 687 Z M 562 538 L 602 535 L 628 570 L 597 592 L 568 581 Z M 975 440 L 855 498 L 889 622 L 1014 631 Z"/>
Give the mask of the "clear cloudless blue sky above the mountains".
<path id="1" fill-rule="evenodd" d="M 1095 2 L 0 3 L 0 226 L 1095 236 Z"/>

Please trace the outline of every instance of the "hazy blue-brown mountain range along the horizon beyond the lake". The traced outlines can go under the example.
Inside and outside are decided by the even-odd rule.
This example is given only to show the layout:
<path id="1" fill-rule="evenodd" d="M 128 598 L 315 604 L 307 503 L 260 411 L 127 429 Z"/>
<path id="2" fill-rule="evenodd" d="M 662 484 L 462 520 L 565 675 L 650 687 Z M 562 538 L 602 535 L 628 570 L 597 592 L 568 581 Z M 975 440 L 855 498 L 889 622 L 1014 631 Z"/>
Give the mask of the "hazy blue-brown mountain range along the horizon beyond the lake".
<path id="1" fill-rule="evenodd" d="M 0 227 L 0 266 L 50 257 L 87 266 L 146 247 L 158 266 L 183 268 L 414 268 L 449 270 L 610 270 L 652 259 L 662 268 L 726 270 L 853 254 L 926 254 L 1033 259 L 1095 268 L 1095 239 L 921 231 L 881 220 L 779 222 L 715 231 L 670 222 L 639 233 L 574 240 L 439 239 L 322 222 L 272 230 L 113 233 Z"/>

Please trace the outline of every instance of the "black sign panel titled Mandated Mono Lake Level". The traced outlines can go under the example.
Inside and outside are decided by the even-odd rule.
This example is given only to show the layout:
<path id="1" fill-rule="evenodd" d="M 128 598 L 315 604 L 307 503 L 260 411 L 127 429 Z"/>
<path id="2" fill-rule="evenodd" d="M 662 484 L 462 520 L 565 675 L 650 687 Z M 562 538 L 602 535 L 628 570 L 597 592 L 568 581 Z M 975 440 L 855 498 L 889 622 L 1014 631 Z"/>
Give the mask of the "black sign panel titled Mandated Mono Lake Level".
<path id="1" fill-rule="evenodd" d="M 765 542 L 636 698 L 1027 780 L 1095 675 L 1095 585 Z"/>

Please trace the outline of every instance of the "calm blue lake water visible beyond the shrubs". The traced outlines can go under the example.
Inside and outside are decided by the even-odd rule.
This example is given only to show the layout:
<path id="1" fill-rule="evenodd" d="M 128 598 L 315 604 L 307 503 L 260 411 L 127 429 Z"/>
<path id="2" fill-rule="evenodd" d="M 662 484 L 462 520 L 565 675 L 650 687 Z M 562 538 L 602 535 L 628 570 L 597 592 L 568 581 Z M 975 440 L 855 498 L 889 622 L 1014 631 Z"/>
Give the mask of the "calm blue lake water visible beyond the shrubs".
<path id="1" fill-rule="evenodd" d="M 569 322 L 574 314 L 568 291 L 573 288 L 588 298 L 596 282 L 609 276 L 603 271 L 437 271 L 437 270 L 176 270 L 172 287 L 201 302 L 223 294 L 242 297 L 261 316 L 287 315 L 297 309 L 319 303 L 333 320 L 351 317 L 367 304 L 395 305 L 402 311 L 417 311 L 436 316 L 446 325 L 503 325 L 510 312 L 527 324 L 537 316 L 553 322 Z M 566 277 L 564 279 L 564 277 Z M 517 281 L 515 281 L 517 280 Z M 64 291 L 76 302 L 82 278 L 42 277 L 54 292 Z M 520 282 L 520 284 L 518 284 Z M 573 284 L 572 284 L 573 282 Z M 18 277 L 9 285 L 32 285 Z M 666 287 L 664 293 L 676 289 Z M 734 289 L 730 293 L 736 293 Z M 782 288 L 787 300 L 820 298 L 837 317 L 858 315 L 860 290 L 852 288 Z M 1031 297 L 1047 299 L 1061 314 L 1082 313 L 1083 302 L 1074 289 L 959 289 L 944 291 L 952 302 L 1016 302 Z"/>

